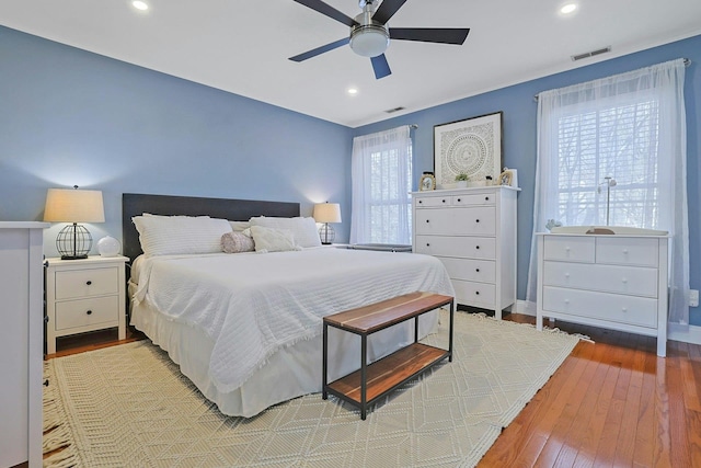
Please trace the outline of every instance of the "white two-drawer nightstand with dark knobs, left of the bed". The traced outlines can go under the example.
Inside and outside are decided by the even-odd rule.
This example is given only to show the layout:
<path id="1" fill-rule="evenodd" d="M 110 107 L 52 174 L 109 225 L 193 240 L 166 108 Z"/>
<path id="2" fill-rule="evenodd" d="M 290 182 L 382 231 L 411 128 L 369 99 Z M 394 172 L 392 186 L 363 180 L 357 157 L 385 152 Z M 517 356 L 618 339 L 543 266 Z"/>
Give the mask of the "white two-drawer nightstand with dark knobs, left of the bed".
<path id="1" fill-rule="evenodd" d="M 126 256 L 82 260 L 47 259 L 46 353 L 56 353 L 56 339 L 118 328 L 126 336 Z"/>

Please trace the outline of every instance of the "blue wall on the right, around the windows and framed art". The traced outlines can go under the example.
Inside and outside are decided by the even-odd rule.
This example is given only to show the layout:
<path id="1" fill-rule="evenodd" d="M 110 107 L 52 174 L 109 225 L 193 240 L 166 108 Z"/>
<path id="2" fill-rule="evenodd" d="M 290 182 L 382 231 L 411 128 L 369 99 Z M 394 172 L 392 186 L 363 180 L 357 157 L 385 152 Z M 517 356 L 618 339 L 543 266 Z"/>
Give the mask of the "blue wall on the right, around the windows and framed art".
<path id="1" fill-rule="evenodd" d="M 533 96 L 541 91 L 608 77 L 681 57 L 689 58 L 692 61 L 691 66 L 687 68 L 685 80 L 688 134 L 687 182 L 691 259 L 690 284 L 692 289 L 699 289 L 701 288 L 701 265 L 699 262 L 701 258 L 701 236 L 699 236 L 699 232 L 701 232 L 699 210 L 699 206 L 701 206 L 701 184 L 699 183 L 701 173 L 699 165 L 699 155 L 701 153 L 701 142 L 699 141 L 699 134 L 701 133 L 701 36 L 358 127 L 354 130 L 354 136 L 380 132 L 400 125 L 417 124 L 418 128 L 413 133 L 414 179 L 416 184 L 421 173 L 430 171 L 434 167 L 434 125 L 503 111 L 503 162 L 504 165 L 518 170 L 518 183 L 521 187 L 521 192 L 518 195 L 517 296 L 519 299 L 525 299 L 533 226 L 536 175 L 536 113 L 538 104 Z M 692 308 L 690 309 L 690 322 L 701 326 L 701 310 Z"/>

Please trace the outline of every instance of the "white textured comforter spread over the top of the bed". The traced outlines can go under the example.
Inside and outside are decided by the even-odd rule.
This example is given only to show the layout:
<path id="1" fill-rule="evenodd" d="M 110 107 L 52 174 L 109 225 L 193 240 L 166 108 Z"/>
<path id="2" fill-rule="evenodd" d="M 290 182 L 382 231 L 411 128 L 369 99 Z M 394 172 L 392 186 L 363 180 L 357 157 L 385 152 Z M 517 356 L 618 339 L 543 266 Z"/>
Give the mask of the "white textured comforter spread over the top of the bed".
<path id="1" fill-rule="evenodd" d="M 134 300 L 215 342 L 209 378 L 240 387 L 283 346 L 322 332 L 323 316 L 415 290 L 453 296 L 439 260 L 346 249 L 143 259 Z"/>

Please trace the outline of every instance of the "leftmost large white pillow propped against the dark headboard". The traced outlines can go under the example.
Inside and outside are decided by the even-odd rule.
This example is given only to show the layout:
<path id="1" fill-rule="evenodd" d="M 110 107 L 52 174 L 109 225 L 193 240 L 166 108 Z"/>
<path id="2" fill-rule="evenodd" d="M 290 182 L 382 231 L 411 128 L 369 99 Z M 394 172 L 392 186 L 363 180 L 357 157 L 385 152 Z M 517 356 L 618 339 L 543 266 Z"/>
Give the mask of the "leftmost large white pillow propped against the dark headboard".
<path id="1" fill-rule="evenodd" d="M 231 232 L 226 219 L 208 216 L 135 216 L 141 250 L 148 256 L 221 252 L 221 236 Z"/>

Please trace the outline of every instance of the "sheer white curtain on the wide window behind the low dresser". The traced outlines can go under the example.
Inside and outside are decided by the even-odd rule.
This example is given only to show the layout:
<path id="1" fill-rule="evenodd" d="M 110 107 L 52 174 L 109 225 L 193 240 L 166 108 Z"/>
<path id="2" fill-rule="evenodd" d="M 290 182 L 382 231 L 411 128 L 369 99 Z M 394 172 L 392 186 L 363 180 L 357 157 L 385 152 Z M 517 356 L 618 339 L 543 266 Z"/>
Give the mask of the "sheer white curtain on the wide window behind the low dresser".
<path id="1" fill-rule="evenodd" d="M 537 294 L 536 232 L 636 226 L 671 236 L 669 321 L 689 323 L 685 60 L 538 94 L 538 160 L 527 300 Z M 607 203 L 606 176 L 616 180 Z M 607 209 L 607 205 L 610 208 Z"/>

